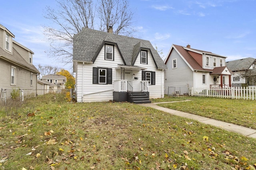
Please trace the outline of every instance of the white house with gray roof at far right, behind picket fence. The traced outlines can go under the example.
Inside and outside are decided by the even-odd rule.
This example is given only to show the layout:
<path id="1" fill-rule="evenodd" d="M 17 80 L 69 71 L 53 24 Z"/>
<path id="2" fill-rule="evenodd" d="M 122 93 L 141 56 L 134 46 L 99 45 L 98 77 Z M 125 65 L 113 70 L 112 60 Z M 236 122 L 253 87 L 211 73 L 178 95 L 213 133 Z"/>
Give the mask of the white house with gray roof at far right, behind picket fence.
<path id="1" fill-rule="evenodd" d="M 248 57 L 245 59 L 226 62 L 226 66 L 234 72 L 232 75 L 232 86 L 241 87 L 256 86 L 256 59 Z"/>

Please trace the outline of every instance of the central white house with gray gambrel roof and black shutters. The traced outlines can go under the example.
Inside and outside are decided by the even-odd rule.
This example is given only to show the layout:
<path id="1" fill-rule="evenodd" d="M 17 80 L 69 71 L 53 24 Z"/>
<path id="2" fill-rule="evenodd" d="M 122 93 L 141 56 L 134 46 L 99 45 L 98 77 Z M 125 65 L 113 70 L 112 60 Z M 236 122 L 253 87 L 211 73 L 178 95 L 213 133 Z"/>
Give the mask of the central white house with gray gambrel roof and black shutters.
<path id="1" fill-rule="evenodd" d="M 83 28 L 74 35 L 77 102 L 164 97 L 166 65 L 150 41 Z"/>

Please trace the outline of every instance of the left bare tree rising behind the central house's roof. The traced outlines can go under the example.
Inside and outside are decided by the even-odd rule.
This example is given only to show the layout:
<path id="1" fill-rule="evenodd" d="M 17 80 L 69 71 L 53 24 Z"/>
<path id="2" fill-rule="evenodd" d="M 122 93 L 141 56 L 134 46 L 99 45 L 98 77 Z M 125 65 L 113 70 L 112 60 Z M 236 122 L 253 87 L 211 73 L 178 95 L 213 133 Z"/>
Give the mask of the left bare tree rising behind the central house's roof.
<path id="1" fill-rule="evenodd" d="M 46 7 L 46 19 L 56 28 L 44 27 L 44 33 L 50 41 L 50 54 L 64 63 L 72 62 L 74 34 L 82 27 L 94 28 L 95 7 L 92 0 L 56 0 L 58 9 Z"/>

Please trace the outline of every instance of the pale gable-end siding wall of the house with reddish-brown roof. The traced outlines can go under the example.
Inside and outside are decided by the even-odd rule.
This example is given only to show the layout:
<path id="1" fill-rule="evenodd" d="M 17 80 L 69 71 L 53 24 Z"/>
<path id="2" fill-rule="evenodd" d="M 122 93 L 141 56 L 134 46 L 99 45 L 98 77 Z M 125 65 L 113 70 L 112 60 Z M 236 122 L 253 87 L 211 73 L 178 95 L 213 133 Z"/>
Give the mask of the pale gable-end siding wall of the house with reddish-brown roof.
<path id="1" fill-rule="evenodd" d="M 172 60 L 176 59 L 178 67 L 175 69 L 172 68 Z M 180 57 L 175 49 L 172 50 L 166 66 L 168 70 L 164 70 L 164 94 L 168 94 L 168 87 L 183 87 L 183 91 L 180 92 L 180 95 L 188 93 L 187 87 L 194 86 L 194 71 L 188 66 L 188 64 Z M 171 89 L 171 88 L 170 88 Z"/>

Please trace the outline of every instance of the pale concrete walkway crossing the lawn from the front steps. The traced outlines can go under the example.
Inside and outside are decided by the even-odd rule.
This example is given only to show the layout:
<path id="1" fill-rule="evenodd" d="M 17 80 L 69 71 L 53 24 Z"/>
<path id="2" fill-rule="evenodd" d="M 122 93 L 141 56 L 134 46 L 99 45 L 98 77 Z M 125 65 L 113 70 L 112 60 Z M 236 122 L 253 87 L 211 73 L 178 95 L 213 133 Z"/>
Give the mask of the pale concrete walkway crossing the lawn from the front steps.
<path id="1" fill-rule="evenodd" d="M 175 101 L 175 102 L 187 102 L 187 101 L 190 101 L 190 100 Z M 232 123 L 226 123 L 226 122 L 223 122 L 223 121 L 210 119 L 208 117 L 202 117 L 202 116 L 194 115 L 194 114 L 191 114 L 191 113 L 186 113 L 186 112 L 183 112 L 183 111 L 168 109 L 168 108 L 160 107 L 160 106 L 156 105 L 156 104 L 162 104 L 162 103 L 173 103 L 173 102 L 159 102 L 159 103 L 140 104 L 140 105 L 141 106 L 146 106 L 146 107 L 152 107 L 154 109 L 158 109 L 158 110 L 164 111 L 166 113 L 170 113 L 172 115 L 177 115 L 177 116 L 185 117 L 185 118 L 188 118 L 188 119 L 194 119 L 194 120 L 199 121 L 201 123 L 205 123 L 205 124 L 208 124 L 208 125 L 213 125 L 213 126 L 225 129 L 225 130 L 230 131 L 230 132 L 239 133 L 239 134 L 247 136 L 247 137 L 256 138 L 256 129 L 251 129 L 251 128 L 243 127 L 243 126 L 240 126 L 240 125 L 234 125 Z"/>

